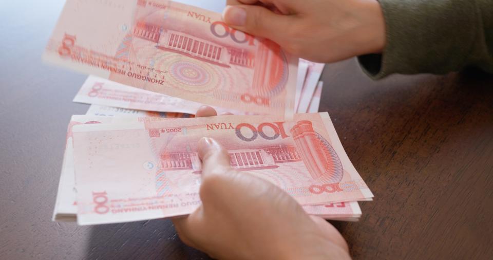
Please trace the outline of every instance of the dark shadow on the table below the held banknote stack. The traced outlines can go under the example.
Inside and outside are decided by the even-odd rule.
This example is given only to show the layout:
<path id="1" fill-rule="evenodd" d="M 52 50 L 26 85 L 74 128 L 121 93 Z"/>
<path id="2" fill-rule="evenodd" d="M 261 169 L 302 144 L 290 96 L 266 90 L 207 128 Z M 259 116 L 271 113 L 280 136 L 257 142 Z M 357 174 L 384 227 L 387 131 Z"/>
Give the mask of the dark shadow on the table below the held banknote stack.
<path id="1" fill-rule="evenodd" d="M 86 259 L 210 259 L 184 245 L 170 220 L 90 227 Z"/>

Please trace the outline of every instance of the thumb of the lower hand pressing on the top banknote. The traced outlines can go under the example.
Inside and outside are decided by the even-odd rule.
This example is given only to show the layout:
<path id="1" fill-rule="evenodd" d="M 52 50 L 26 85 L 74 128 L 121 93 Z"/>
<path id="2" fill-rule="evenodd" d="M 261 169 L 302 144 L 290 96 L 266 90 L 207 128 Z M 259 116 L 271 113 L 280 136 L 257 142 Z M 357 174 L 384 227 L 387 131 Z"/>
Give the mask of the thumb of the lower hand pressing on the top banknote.
<path id="1" fill-rule="evenodd" d="M 202 160 L 202 178 L 211 174 L 224 174 L 232 170 L 230 155 L 216 140 L 202 137 L 197 150 L 199 158 Z"/>

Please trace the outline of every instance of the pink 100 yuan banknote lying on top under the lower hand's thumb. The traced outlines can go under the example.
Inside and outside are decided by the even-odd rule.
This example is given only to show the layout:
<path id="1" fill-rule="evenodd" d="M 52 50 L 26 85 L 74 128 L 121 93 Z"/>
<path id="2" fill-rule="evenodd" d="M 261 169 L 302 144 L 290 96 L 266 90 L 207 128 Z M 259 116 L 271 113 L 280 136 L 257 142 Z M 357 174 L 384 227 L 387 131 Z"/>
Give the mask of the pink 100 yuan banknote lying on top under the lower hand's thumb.
<path id="1" fill-rule="evenodd" d="M 81 225 L 186 215 L 200 205 L 203 136 L 221 142 L 238 171 L 271 181 L 302 205 L 373 197 L 327 113 L 142 119 L 73 128 Z"/>

